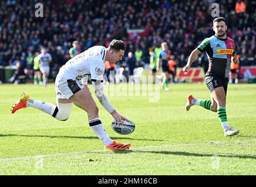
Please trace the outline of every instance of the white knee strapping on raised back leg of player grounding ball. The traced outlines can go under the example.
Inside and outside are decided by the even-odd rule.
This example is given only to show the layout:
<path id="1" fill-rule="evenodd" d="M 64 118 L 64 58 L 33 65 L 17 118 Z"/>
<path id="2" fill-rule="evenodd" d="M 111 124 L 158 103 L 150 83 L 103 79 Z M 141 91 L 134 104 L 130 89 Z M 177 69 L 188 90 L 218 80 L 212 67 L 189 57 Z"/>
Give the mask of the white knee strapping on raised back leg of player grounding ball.
<path id="1" fill-rule="evenodd" d="M 69 118 L 73 103 L 58 103 L 52 117 L 60 121 L 65 121 Z"/>

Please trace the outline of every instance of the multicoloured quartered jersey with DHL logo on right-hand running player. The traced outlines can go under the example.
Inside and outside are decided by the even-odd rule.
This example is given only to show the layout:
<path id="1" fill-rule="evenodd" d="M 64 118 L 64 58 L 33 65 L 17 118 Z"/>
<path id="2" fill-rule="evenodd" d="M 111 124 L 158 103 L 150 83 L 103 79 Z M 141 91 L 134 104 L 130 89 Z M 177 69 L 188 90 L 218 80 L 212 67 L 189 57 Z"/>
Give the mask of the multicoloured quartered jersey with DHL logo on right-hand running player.
<path id="1" fill-rule="evenodd" d="M 201 53 L 204 51 L 207 53 L 209 67 L 206 76 L 218 74 L 221 77 L 228 78 L 231 57 L 235 54 L 234 40 L 230 39 L 230 37 L 220 39 L 214 35 L 204 39 L 197 49 Z"/>

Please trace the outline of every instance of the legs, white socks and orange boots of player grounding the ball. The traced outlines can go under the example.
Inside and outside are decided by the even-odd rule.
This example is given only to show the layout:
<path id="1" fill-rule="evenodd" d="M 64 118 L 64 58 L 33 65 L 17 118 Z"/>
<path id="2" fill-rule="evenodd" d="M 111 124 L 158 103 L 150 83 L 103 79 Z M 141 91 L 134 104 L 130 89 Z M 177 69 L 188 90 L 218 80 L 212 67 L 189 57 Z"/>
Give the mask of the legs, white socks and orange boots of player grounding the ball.
<path id="1" fill-rule="evenodd" d="M 60 121 L 65 121 L 68 120 L 73 106 L 71 101 L 73 101 L 76 106 L 79 106 L 79 108 L 87 111 L 90 127 L 97 137 L 106 145 L 106 148 L 111 150 L 125 150 L 131 146 L 131 144 L 116 143 L 116 141 L 109 138 L 100 122 L 96 103 L 87 88 L 76 92 L 75 95 L 71 96 L 71 99 L 58 99 L 58 106 L 52 103 L 31 99 L 26 93 L 22 93 L 20 99 L 12 106 L 11 112 L 15 113 L 16 110 L 32 107 L 42 110 L 42 112 L 48 113 Z"/>

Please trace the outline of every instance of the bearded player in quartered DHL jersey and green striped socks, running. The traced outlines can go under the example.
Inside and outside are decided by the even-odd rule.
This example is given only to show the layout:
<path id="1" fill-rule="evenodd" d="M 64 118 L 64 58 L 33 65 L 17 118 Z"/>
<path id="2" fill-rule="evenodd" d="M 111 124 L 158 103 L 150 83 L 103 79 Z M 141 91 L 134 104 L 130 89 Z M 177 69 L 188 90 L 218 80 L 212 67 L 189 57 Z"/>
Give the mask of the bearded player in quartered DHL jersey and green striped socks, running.
<path id="1" fill-rule="evenodd" d="M 199 105 L 207 110 L 217 112 L 218 119 L 220 119 L 224 129 L 224 136 L 234 136 L 239 133 L 239 130 L 233 130 L 229 126 L 225 105 L 230 63 L 233 61 L 238 64 L 239 60 L 235 53 L 234 40 L 226 36 L 227 25 L 225 19 L 222 17 L 214 19 L 213 30 L 215 35 L 204 39 L 197 49 L 192 51 L 188 57 L 187 65 L 183 67 L 183 71 L 187 72 L 191 64 L 197 59 L 198 54 L 206 51 L 209 67 L 205 81 L 211 91 L 211 101 L 195 99 L 194 96 L 188 95 L 186 110 L 188 111 L 193 105 Z"/>

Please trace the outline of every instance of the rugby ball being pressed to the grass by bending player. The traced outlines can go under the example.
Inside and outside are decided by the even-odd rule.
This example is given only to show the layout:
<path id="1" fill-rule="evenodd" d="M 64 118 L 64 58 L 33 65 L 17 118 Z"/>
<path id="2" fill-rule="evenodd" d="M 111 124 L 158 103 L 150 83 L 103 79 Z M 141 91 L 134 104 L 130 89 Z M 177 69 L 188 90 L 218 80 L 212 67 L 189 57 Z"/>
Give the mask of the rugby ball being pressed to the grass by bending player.
<path id="1" fill-rule="evenodd" d="M 119 134 L 130 134 L 135 130 L 135 124 L 130 120 L 122 119 L 123 124 L 112 122 L 112 129 Z"/>

